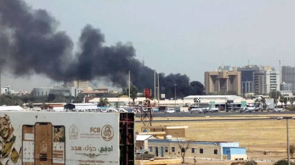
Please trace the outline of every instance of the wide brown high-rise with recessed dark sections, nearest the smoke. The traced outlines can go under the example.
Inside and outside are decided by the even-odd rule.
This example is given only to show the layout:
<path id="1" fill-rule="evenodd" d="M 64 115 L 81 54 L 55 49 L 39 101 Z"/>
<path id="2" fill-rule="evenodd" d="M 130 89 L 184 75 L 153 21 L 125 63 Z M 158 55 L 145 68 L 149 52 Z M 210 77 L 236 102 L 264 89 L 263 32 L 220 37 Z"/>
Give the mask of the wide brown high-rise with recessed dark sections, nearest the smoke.
<path id="1" fill-rule="evenodd" d="M 206 71 L 205 72 L 206 93 L 233 91 L 241 94 L 241 72 L 240 71 Z"/>

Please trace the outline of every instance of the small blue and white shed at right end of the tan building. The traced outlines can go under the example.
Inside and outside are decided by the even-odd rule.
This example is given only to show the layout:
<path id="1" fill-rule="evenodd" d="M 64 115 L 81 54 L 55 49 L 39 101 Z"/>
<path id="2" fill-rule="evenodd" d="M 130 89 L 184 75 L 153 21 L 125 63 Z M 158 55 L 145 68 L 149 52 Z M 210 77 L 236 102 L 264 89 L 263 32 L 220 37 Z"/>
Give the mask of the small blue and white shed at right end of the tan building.
<path id="1" fill-rule="evenodd" d="M 247 160 L 246 148 L 223 147 L 222 157 L 226 160 Z"/>

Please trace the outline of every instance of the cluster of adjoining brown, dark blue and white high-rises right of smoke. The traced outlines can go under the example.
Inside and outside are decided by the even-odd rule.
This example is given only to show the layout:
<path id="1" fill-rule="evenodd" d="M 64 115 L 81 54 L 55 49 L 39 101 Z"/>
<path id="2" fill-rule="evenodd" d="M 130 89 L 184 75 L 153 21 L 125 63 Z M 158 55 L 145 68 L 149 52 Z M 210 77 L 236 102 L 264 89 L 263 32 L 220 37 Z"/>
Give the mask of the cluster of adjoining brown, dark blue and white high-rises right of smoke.
<path id="1" fill-rule="evenodd" d="M 280 91 L 280 73 L 271 66 L 221 66 L 205 72 L 206 93 L 269 94 Z"/>

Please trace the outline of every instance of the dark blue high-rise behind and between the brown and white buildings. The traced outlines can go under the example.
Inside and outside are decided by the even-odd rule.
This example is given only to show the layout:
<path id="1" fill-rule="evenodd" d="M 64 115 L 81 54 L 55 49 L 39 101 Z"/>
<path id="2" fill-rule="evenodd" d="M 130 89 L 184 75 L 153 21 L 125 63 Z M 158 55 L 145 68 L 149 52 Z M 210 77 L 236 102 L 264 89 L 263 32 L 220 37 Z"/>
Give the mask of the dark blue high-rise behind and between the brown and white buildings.
<path id="1" fill-rule="evenodd" d="M 274 70 L 270 66 L 247 65 L 244 67 L 233 67 L 236 71 L 241 72 L 242 94 L 254 93 L 253 72 L 255 71 L 271 71 Z"/>

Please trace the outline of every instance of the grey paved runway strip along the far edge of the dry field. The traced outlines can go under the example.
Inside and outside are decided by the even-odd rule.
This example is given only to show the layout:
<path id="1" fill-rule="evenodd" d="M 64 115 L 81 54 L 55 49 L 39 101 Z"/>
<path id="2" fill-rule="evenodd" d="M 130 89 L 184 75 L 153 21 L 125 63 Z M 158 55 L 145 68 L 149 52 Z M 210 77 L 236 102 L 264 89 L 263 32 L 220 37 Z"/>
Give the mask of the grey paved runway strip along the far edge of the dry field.
<path id="1" fill-rule="evenodd" d="M 287 111 L 287 112 L 276 112 L 276 113 L 271 113 L 271 112 L 252 112 L 252 113 L 238 113 L 238 112 L 219 112 L 219 113 L 206 113 L 206 114 L 199 114 L 199 113 L 174 113 L 174 114 L 166 114 L 166 113 L 155 113 L 155 118 L 159 117 L 205 117 L 205 116 L 210 116 L 210 117 L 230 117 L 231 115 L 241 115 L 241 116 L 253 116 L 253 115 L 286 115 L 286 114 L 294 114 L 295 117 L 295 112 L 294 111 Z M 140 115 L 140 114 L 137 114 Z"/>

